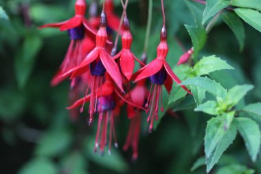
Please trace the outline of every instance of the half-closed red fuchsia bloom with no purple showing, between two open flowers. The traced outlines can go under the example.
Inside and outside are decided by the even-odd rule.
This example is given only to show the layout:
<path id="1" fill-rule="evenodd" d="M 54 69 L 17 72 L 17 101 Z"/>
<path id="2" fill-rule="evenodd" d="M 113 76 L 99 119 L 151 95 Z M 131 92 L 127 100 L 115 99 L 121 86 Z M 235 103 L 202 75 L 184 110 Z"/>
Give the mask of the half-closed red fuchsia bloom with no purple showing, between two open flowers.
<path id="1" fill-rule="evenodd" d="M 131 76 L 133 75 L 133 70 L 135 67 L 135 61 L 141 63 L 139 59 L 134 56 L 133 52 L 131 52 L 131 43 L 133 42 L 133 36 L 130 32 L 130 23 L 126 16 L 124 16 L 124 32 L 122 34 L 122 50 L 115 55 L 113 58 L 120 58 L 120 69 L 122 70 L 122 74 L 128 80 L 131 80 Z"/>

